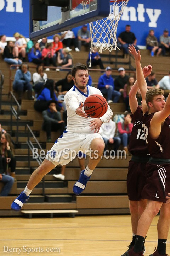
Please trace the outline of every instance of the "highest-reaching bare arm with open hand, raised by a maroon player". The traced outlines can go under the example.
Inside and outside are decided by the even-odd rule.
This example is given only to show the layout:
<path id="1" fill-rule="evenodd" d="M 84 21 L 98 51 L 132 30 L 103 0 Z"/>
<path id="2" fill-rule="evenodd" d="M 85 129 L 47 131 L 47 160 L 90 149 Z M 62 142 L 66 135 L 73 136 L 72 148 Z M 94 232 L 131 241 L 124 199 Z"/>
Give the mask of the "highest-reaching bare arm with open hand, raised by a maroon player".
<path id="1" fill-rule="evenodd" d="M 135 47 L 132 45 L 129 45 L 129 52 L 134 56 L 135 59 L 135 65 L 136 65 L 136 80 L 138 83 L 138 87 L 141 91 L 141 96 L 142 96 L 142 110 L 143 113 L 145 113 L 147 111 L 147 105 L 145 102 L 145 95 L 147 92 L 147 84 L 146 84 L 146 80 L 145 80 L 145 76 L 143 74 L 142 71 L 142 66 L 141 66 L 141 54 L 140 51 L 138 50 L 136 52 Z"/>

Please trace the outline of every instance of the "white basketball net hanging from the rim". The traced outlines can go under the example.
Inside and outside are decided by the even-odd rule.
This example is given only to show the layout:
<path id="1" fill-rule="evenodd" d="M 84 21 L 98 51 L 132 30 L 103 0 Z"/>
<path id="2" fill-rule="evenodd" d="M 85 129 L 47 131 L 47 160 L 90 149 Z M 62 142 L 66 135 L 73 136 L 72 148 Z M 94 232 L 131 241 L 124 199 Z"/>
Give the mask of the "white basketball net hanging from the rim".
<path id="1" fill-rule="evenodd" d="M 116 38 L 117 26 L 129 0 L 111 0 L 110 2 L 112 5 L 109 16 L 102 20 L 90 22 L 90 54 L 92 54 L 94 47 L 97 47 L 100 53 L 107 49 L 110 52 L 116 49 L 119 50 Z M 91 67 L 91 56 L 89 66 Z"/>

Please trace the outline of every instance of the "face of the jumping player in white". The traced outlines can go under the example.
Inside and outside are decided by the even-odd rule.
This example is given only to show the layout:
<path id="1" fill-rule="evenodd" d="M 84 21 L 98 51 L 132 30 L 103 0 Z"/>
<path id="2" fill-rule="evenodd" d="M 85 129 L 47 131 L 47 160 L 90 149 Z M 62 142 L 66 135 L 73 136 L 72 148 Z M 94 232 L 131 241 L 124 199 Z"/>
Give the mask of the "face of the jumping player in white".
<path id="1" fill-rule="evenodd" d="M 88 70 L 81 70 L 78 69 L 75 77 L 73 76 L 73 81 L 75 83 L 75 86 L 80 89 L 83 92 L 87 91 L 86 85 L 89 80 L 89 73 Z"/>

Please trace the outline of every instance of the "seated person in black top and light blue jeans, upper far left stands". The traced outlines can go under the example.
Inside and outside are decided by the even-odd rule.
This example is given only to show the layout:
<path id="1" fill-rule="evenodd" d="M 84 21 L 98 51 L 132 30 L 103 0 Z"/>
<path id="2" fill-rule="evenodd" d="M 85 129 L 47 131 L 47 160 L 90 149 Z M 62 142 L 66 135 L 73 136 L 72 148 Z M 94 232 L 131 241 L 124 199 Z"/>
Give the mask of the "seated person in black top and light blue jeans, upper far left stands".
<path id="1" fill-rule="evenodd" d="M 12 41 L 8 41 L 7 45 L 5 46 L 4 52 L 3 52 L 3 59 L 6 63 L 10 65 L 21 65 L 22 60 L 19 58 L 15 58 L 13 56 L 13 48 L 14 48 L 14 43 Z"/>

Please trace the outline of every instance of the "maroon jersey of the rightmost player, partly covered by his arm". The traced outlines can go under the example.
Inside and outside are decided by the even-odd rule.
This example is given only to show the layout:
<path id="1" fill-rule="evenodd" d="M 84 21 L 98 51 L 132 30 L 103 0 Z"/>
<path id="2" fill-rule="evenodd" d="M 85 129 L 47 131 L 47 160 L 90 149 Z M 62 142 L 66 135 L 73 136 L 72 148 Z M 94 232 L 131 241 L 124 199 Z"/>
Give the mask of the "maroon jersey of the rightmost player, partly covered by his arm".
<path id="1" fill-rule="evenodd" d="M 154 113 L 145 115 L 143 118 L 143 128 L 145 129 L 149 154 L 153 158 L 170 159 L 170 117 L 167 117 L 162 124 L 159 137 L 152 139 L 149 134 L 149 127 L 153 115 Z"/>

